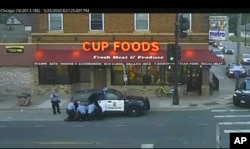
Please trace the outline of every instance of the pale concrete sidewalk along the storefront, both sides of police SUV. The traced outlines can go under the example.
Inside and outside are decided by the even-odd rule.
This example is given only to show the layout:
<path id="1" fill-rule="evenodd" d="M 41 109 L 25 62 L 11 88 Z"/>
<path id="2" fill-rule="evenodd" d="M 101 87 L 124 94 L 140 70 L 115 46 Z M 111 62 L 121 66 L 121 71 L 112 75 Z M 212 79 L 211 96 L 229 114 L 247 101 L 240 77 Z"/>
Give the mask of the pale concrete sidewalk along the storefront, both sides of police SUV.
<path id="1" fill-rule="evenodd" d="M 179 97 L 179 105 L 173 105 L 172 97 L 148 97 L 152 111 L 166 110 L 197 110 L 223 107 L 232 104 L 232 94 L 221 94 L 216 91 L 210 97 L 199 97 L 197 95 L 188 95 Z M 61 98 L 61 109 L 65 110 L 70 97 Z M 18 98 L 14 96 L 0 97 L 0 110 L 47 110 L 51 109 L 51 102 L 45 96 L 31 96 L 32 104 L 30 106 L 18 106 Z"/>

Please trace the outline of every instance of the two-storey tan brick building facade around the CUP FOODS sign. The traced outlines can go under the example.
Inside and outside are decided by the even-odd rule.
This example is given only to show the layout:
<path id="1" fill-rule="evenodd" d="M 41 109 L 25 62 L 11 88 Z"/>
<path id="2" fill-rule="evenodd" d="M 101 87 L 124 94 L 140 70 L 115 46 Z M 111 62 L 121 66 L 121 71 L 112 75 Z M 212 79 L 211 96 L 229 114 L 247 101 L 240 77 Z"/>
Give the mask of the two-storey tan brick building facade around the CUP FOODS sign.
<path id="1" fill-rule="evenodd" d="M 33 21 L 35 23 L 31 34 L 32 43 L 24 44 L 25 47 L 31 46 L 33 50 L 37 51 L 33 57 L 29 57 L 34 59 L 34 63 L 30 64 L 30 69 L 26 68 L 30 72 L 30 76 L 32 76 L 30 78 L 33 79 L 31 81 L 32 87 L 28 91 L 34 94 L 48 94 L 52 88 L 57 87 L 60 88 L 62 93 L 70 94 L 78 89 L 103 86 L 123 90 L 122 66 L 105 66 L 103 63 L 101 65 L 94 64 L 98 63 L 99 60 L 91 61 L 93 65 L 67 65 L 71 61 L 74 62 L 75 59 L 70 59 L 67 54 L 63 56 L 62 53 L 68 51 L 69 55 L 77 56 L 78 54 L 72 53 L 72 50 L 81 51 L 82 43 L 85 41 L 106 41 L 108 43 L 114 41 L 159 42 L 160 49 L 163 50 L 161 56 L 166 58 L 166 54 L 164 54 L 166 45 L 174 42 L 175 15 L 171 13 L 34 14 Z M 197 53 L 198 49 L 208 52 L 206 51 L 208 50 L 208 15 L 195 13 L 185 14 L 184 16 L 190 20 L 190 29 L 188 30 L 188 38 L 180 39 L 182 49 L 191 49 L 191 52 L 196 55 L 199 54 L 199 52 Z M 30 51 L 26 50 L 26 52 Z M 39 52 L 43 52 L 43 54 Z M 185 58 L 187 53 L 188 51 L 182 54 L 184 61 L 180 74 L 190 72 L 192 74 L 186 74 L 185 81 L 181 81 L 179 94 L 184 95 L 198 91 L 198 94 L 208 96 L 209 66 L 214 63 L 222 63 L 216 58 L 214 60 L 210 58 L 211 62 L 202 62 L 197 58 L 197 61 L 196 59 L 193 61 L 191 58 L 191 60 L 187 60 Z M 39 55 L 42 57 L 41 61 L 36 59 Z M 83 57 L 86 58 L 86 55 L 84 57 L 83 54 Z M 55 59 L 58 59 L 58 61 L 55 61 Z M 44 65 L 44 63 L 40 62 L 48 63 Z M 60 62 L 62 63 L 58 64 Z M 147 61 L 145 62 L 147 63 Z M 124 63 L 126 63 L 126 60 Z M 173 84 L 171 82 L 174 77 L 173 67 L 173 65 L 169 64 L 161 66 L 155 64 L 126 65 L 127 89 L 132 94 L 152 96 L 160 85 Z M 131 72 L 132 70 L 134 72 Z M 150 83 L 145 84 L 145 75 L 151 76 Z"/>

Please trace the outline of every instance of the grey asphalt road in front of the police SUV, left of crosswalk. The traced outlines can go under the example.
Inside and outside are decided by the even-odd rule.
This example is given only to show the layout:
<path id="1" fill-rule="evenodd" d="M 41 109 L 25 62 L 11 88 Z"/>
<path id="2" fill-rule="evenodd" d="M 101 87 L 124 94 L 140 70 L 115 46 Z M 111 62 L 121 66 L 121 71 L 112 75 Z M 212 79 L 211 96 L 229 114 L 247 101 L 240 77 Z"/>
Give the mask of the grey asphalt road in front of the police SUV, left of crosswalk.
<path id="1" fill-rule="evenodd" d="M 150 112 L 101 121 L 2 121 L 1 147 L 214 148 L 215 118 L 209 110 Z"/>

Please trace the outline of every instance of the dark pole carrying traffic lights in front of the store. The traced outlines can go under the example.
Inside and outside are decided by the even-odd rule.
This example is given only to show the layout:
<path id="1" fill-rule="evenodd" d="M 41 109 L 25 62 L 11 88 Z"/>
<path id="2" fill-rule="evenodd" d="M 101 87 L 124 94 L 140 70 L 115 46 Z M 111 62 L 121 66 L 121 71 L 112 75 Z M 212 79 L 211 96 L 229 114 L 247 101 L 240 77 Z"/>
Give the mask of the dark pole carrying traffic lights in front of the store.
<path id="1" fill-rule="evenodd" d="M 174 96 L 173 96 L 173 105 L 179 105 L 179 95 L 178 95 L 178 72 L 179 72 L 179 59 L 178 59 L 178 46 L 179 46 L 179 14 L 175 16 L 175 70 L 174 70 Z"/>

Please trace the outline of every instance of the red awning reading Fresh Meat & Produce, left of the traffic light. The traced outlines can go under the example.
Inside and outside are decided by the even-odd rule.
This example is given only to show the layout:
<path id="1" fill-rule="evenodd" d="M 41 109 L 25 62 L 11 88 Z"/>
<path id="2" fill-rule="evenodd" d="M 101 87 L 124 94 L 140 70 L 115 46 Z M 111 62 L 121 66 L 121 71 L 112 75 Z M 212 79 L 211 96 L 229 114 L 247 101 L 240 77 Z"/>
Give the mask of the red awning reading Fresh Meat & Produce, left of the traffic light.
<path id="1" fill-rule="evenodd" d="M 83 52 L 82 50 L 38 50 L 35 65 L 112 65 L 115 63 L 138 64 L 166 63 L 166 50 L 157 52 L 115 52 L 113 49 L 102 52 Z"/>

